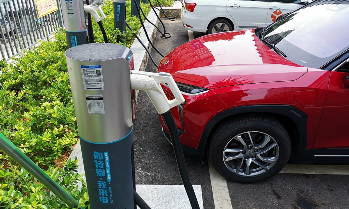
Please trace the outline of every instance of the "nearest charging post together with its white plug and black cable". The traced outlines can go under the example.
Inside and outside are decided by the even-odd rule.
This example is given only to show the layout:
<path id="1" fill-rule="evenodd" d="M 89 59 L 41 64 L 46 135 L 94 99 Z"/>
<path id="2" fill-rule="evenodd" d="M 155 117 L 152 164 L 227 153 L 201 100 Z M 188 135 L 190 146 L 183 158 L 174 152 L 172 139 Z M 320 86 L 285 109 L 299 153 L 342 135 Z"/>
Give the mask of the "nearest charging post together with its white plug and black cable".
<path id="1" fill-rule="evenodd" d="M 198 209 L 170 111 L 185 101 L 173 77 L 164 72 L 133 70 L 131 50 L 118 44 L 78 45 L 65 55 L 90 208 L 135 209 L 134 202 L 140 208 L 149 208 L 135 192 L 134 176 L 132 91 L 142 90 L 157 112 L 168 118 L 181 178 L 191 205 Z M 167 98 L 162 83 L 167 84 L 174 99 Z"/>

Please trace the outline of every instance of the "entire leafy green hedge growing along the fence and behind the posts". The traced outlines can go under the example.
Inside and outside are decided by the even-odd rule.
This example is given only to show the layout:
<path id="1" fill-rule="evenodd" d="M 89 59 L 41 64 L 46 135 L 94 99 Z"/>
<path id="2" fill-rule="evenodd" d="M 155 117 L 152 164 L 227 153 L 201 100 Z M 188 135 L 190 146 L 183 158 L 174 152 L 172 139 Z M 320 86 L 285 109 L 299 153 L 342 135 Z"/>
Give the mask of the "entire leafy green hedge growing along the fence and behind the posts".
<path id="1" fill-rule="evenodd" d="M 140 22 L 131 17 L 130 5 L 128 0 L 127 22 L 138 31 Z M 116 36 L 121 33 L 113 29 L 112 1 L 106 1 L 102 8 L 107 16 L 103 24 L 109 42 L 116 43 Z M 146 14 L 150 10 L 148 5 L 142 8 Z M 96 42 L 103 42 L 98 26 L 93 26 Z M 132 33 L 123 34 L 126 41 L 121 44 L 131 46 Z M 64 55 L 65 31 L 58 30 L 55 38 L 13 58 L 14 65 L 0 61 L 0 131 L 85 206 L 89 203 L 88 195 L 84 183 L 82 191 L 77 189 L 82 176 L 76 173 L 76 161 L 68 161 L 61 168 L 78 133 Z M 9 208 L 67 206 L 0 150 L 0 209 Z"/>

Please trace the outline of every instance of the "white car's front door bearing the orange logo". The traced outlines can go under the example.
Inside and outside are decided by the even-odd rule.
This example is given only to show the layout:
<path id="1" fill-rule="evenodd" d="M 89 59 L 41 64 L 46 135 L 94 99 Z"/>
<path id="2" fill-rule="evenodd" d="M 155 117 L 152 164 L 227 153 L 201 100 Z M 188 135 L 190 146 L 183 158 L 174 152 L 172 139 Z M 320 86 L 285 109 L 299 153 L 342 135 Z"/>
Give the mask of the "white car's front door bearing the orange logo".
<path id="1" fill-rule="evenodd" d="M 283 14 L 290 13 L 304 5 L 300 4 L 300 0 L 267 0 L 268 16 L 266 25 L 268 26 L 276 21 Z"/>

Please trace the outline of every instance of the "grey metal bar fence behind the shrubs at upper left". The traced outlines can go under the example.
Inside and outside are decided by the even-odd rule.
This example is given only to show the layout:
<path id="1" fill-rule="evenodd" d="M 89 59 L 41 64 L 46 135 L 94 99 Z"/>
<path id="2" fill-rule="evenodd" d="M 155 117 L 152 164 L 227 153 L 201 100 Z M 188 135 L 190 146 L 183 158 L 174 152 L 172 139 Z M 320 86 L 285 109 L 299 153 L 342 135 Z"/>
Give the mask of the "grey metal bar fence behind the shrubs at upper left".
<path id="1" fill-rule="evenodd" d="M 90 0 L 90 5 L 102 3 L 103 0 Z M 35 0 L 0 0 L 2 59 L 9 60 L 64 27 L 60 0 L 57 4 L 58 11 L 39 17 Z"/>

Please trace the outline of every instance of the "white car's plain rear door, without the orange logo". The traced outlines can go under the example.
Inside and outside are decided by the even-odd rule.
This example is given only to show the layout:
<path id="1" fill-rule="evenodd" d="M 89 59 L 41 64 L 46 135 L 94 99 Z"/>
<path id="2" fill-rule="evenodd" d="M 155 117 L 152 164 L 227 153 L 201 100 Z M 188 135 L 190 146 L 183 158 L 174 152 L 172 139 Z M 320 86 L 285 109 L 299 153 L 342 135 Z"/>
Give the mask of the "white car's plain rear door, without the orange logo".
<path id="1" fill-rule="evenodd" d="M 237 28 L 264 27 L 268 14 L 268 3 L 264 0 L 229 0 L 227 10 Z"/>

